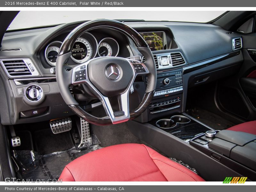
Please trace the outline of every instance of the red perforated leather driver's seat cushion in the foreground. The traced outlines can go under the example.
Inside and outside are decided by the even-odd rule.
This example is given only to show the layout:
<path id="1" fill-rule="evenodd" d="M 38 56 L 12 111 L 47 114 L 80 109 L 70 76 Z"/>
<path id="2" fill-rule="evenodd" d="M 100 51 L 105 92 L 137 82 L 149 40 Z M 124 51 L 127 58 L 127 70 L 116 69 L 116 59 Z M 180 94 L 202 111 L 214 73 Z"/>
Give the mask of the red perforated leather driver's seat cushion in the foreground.
<path id="1" fill-rule="evenodd" d="M 81 156 L 62 181 L 204 181 L 196 173 L 141 144 L 114 145 Z"/>

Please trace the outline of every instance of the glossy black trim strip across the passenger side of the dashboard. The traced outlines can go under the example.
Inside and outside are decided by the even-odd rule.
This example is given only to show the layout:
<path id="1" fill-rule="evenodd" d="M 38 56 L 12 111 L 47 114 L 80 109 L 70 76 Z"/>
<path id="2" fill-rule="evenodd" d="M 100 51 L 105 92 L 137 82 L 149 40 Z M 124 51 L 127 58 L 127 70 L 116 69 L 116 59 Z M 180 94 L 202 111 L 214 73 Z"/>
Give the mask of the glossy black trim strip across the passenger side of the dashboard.
<path id="1" fill-rule="evenodd" d="M 198 69 L 213 65 L 213 64 L 218 63 L 220 61 L 229 59 L 231 57 L 235 57 L 236 55 L 239 55 L 239 54 L 240 54 L 240 50 L 235 51 L 235 52 L 230 52 L 230 53 L 227 53 L 227 54 L 224 54 L 224 55 L 220 55 L 218 57 L 211 58 L 211 59 L 208 59 L 208 60 L 193 63 L 191 65 L 183 67 L 183 75 L 187 74 L 187 73 L 190 73 L 190 72 L 193 72 L 193 71 L 196 71 Z"/>

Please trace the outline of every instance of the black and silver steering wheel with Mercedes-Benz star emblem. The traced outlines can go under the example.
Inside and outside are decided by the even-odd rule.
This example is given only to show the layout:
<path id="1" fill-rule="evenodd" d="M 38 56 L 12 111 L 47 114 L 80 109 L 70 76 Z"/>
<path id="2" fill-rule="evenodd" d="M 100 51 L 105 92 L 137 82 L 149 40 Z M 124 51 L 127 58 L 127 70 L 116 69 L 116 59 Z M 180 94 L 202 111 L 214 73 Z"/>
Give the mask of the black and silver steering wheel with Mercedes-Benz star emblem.
<path id="1" fill-rule="evenodd" d="M 72 47 L 81 34 L 95 28 L 110 28 L 129 36 L 145 62 L 121 57 L 99 57 L 88 60 L 67 71 L 64 64 L 71 56 Z M 115 20 L 92 20 L 72 30 L 60 47 L 56 61 L 56 79 L 61 96 L 66 104 L 84 120 L 92 124 L 118 124 L 136 118 L 148 107 L 156 89 L 155 60 L 148 44 L 134 29 Z M 136 76 L 148 76 L 145 95 L 140 105 L 129 110 L 129 92 Z M 100 99 L 107 116 L 96 117 L 84 111 L 71 94 L 71 85 L 87 84 L 89 89 Z M 113 110 L 109 101 L 116 96 L 120 110 Z"/>

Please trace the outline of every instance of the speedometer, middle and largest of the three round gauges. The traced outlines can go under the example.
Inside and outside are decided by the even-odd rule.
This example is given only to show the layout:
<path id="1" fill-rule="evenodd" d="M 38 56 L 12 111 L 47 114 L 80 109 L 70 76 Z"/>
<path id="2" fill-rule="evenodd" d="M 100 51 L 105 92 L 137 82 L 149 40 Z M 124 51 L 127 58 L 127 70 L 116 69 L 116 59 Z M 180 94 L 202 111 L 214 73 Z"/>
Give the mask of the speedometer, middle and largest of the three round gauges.
<path id="1" fill-rule="evenodd" d="M 84 63 L 92 57 L 92 45 L 83 37 L 78 37 L 72 48 L 71 58 L 78 62 Z"/>

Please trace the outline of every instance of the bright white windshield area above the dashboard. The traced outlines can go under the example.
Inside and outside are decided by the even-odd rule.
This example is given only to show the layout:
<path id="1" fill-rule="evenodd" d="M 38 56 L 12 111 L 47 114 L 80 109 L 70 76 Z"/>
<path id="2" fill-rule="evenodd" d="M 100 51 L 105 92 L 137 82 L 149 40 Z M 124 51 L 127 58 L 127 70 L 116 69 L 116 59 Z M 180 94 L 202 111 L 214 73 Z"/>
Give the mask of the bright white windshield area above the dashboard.
<path id="1" fill-rule="evenodd" d="M 21 11 L 8 30 L 94 19 L 181 21 L 205 23 L 225 11 Z"/>

